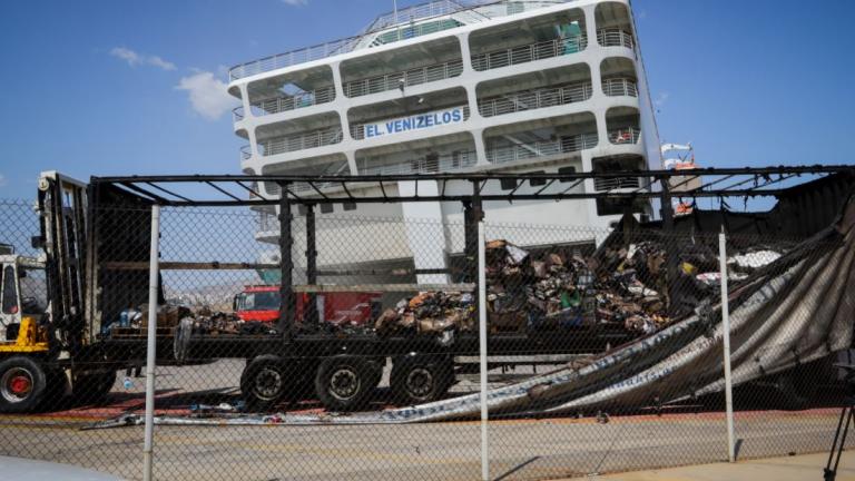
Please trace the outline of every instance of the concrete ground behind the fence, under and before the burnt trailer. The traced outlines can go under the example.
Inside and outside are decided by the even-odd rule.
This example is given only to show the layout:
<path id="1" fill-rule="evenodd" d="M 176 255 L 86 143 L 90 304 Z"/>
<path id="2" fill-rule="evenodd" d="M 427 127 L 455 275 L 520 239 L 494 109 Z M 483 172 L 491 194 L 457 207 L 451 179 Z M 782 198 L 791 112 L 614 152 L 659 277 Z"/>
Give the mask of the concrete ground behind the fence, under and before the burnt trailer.
<path id="1" fill-rule="evenodd" d="M 236 400 L 240 369 L 243 363 L 235 361 L 159 369 L 158 409 L 187 413 L 187 403 L 205 396 Z M 107 406 L 0 416 L 0 455 L 140 479 L 142 428 L 80 428 L 140 412 L 144 384 L 134 379 L 126 387 L 119 379 Z M 831 445 L 837 415 L 831 408 L 739 411 L 739 459 L 823 452 Z M 495 480 L 598 477 L 727 458 L 720 412 L 635 413 L 612 415 L 608 423 L 594 418 L 503 420 L 492 421 L 489 434 Z M 479 480 L 480 424 L 157 426 L 155 460 L 157 479 L 164 480 Z"/>

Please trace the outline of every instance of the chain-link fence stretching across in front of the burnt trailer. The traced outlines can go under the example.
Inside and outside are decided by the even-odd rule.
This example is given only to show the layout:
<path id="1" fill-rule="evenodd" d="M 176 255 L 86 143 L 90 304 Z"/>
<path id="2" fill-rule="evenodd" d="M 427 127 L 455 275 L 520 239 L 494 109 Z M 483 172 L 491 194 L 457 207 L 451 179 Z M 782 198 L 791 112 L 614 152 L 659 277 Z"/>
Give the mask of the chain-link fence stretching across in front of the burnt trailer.
<path id="1" fill-rule="evenodd" d="M 0 208 L 0 454 L 140 479 L 151 208 L 82 237 Z M 463 222 L 262 208 L 160 210 L 157 479 L 481 479 L 484 361 L 490 479 L 726 461 L 729 411 L 740 459 L 831 446 L 848 230 L 728 235 L 721 263 L 718 233 L 488 216 L 480 257 Z"/>

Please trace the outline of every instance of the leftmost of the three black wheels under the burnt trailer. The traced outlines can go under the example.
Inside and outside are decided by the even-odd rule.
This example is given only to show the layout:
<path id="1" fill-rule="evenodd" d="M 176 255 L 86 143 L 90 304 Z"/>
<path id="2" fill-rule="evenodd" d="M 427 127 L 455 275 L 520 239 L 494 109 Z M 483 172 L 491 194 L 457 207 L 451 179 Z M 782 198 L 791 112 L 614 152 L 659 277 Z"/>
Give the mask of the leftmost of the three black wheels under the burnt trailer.
<path id="1" fill-rule="evenodd" d="M 240 393 L 246 404 L 256 411 L 275 408 L 291 391 L 293 380 L 285 362 L 277 355 L 266 354 L 246 363 L 240 375 Z"/>

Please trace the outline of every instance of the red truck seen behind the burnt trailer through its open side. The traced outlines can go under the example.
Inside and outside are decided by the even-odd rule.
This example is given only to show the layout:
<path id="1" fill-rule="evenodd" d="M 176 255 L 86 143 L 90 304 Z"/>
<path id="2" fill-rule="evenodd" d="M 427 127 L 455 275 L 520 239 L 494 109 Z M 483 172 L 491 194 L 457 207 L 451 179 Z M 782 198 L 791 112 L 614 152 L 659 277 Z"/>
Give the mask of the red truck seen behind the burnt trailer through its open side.
<path id="1" fill-rule="evenodd" d="M 302 323 L 309 302 L 309 294 L 298 293 L 296 323 Z M 337 292 L 315 295 L 317 316 L 321 323 L 365 324 L 380 313 L 381 293 Z M 269 322 L 279 320 L 279 286 L 246 286 L 235 296 L 235 314 L 246 322 Z"/>

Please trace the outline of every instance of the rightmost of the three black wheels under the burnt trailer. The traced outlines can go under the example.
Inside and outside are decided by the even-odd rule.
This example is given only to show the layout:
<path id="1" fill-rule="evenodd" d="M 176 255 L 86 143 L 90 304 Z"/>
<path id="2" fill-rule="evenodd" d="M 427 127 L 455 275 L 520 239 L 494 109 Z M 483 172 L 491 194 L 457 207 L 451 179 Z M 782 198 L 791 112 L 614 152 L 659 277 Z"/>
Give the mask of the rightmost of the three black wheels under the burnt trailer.
<path id="1" fill-rule="evenodd" d="M 453 382 L 454 367 L 449 359 L 416 354 L 399 357 L 392 364 L 392 392 L 407 405 L 436 401 Z"/>

